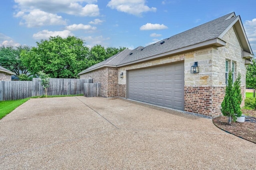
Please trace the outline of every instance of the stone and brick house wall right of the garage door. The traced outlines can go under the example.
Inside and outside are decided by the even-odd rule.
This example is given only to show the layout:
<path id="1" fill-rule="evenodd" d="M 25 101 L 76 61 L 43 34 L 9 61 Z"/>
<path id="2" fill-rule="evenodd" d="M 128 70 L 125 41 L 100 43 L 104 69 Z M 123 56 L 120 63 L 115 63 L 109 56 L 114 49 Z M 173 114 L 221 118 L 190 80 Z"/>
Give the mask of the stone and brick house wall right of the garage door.
<path id="1" fill-rule="evenodd" d="M 225 96 L 225 66 L 229 61 L 235 63 L 235 79 L 238 72 L 242 73 L 241 93 L 242 104 L 245 98 L 245 72 L 242 48 L 233 28 L 223 36 L 224 47 L 208 48 L 185 54 L 185 95 L 184 110 L 192 113 L 217 117 L 221 115 L 220 107 Z M 191 74 L 190 67 L 198 61 L 199 73 Z M 203 96 L 203 97 L 202 97 Z"/>

